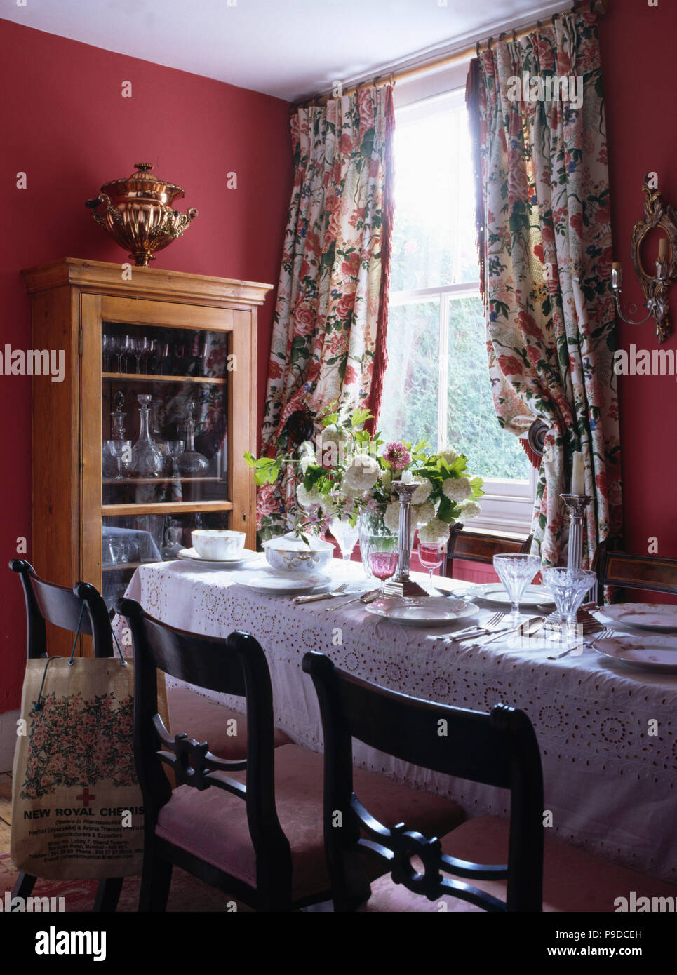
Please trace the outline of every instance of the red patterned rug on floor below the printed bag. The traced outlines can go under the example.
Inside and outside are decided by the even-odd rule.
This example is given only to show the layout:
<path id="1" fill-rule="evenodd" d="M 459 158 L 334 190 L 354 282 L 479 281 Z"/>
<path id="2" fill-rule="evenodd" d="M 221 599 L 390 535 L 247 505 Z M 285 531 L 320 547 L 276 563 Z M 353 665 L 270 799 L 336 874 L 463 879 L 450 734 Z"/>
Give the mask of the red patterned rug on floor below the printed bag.
<path id="1" fill-rule="evenodd" d="M 9 853 L 0 853 L 0 899 L 3 907 L 5 891 L 12 895 L 12 888 L 18 872 L 10 860 Z M 125 878 L 122 885 L 117 910 L 121 912 L 135 912 L 139 902 L 139 877 Z M 40 880 L 38 879 L 31 891 L 31 897 L 62 897 L 66 912 L 91 911 L 97 893 L 96 880 Z M 191 911 L 228 911 L 228 903 L 232 905 L 234 898 L 229 898 L 214 887 L 202 883 L 190 874 L 174 868 L 172 886 L 167 904 L 168 912 Z M 235 902 L 237 903 L 237 902 Z M 230 908 L 232 910 L 232 907 Z M 237 903 L 238 911 L 249 911 L 244 904 Z"/>

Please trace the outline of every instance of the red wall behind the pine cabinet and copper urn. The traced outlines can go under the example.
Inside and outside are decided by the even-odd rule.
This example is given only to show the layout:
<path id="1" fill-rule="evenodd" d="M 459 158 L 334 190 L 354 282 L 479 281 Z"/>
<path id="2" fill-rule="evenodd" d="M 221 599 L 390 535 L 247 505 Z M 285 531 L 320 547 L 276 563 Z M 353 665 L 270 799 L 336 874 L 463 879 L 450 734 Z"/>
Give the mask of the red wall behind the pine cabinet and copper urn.
<path id="1" fill-rule="evenodd" d="M 21 268 L 127 259 L 84 202 L 141 161 L 185 188 L 179 210 L 200 212 L 157 267 L 277 283 L 292 184 L 287 102 L 7 20 L 0 49 L 0 349 L 30 347 Z M 121 97 L 124 81 L 132 98 Z M 226 188 L 229 172 L 237 189 Z M 273 300 L 259 309 L 259 414 Z M 0 377 L 0 713 L 19 706 L 25 653 L 19 582 L 3 566 L 30 536 L 29 391 L 28 377 Z"/>

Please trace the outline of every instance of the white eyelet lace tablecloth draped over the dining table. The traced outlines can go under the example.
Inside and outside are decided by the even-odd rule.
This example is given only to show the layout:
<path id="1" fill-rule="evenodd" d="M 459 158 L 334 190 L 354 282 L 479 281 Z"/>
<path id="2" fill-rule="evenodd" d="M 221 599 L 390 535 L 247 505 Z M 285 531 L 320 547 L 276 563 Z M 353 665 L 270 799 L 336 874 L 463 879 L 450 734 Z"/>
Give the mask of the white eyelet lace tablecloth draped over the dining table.
<path id="1" fill-rule="evenodd" d="M 357 564 L 347 571 L 363 578 Z M 500 701 L 521 708 L 538 736 L 553 834 L 677 882 L 677 676 L 630 670 L 589 647 L 553 662 L 545 644 L 528 650 L 501 641 L 486 649 L 458 644 L 448 633 L 389 623 L 359 603 L 331 612 L 337 601 L 296 605 L 233 584 L 228 571 L 189 563 L 141 565 L 127 595 L 157 619 L 194 633 L 253 634 L 268 660 L 276 723 L 316 751 L 322 730 L 312 681 L 300 669 L 306 650 L 427 700 L 479 711 Z M 116 626 L 122 634 L 121 621 Z M 242 700 L 223 700 L 242 710 Z M 416 768 L 359 742 L 355 758 L 416 788 L 453 796 L 470 815 L 508 814 L 502 790 Z"/>

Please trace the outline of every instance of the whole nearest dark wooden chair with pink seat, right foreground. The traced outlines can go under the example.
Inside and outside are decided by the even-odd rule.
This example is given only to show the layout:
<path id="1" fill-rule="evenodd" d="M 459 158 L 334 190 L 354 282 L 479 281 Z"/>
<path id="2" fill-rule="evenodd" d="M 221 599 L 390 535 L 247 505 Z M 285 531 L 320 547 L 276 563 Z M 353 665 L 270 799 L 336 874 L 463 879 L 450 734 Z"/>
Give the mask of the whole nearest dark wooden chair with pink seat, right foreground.
<path id="1" fill-rule="evenodd" d="M 338 910 L 356 907 L 346 878 L 363 847 L 376 851 L 388 867 L 372 881 L 369 900 L 357 907 L 367 913 L 608 913 L 616 909 L 619 890 L 650 899 L 675 896 L 671 883 L 544 838 L 540 755 L 524 712 L 498 704 L 491 714 L 482 714 L 420 701 L 344 674 L 320 653 L 306 653 L 302 666 L 315 683 L 322 711 L 325 842 Z M 394 829 L 386 828 L 351 782 L 352 737 L 424 768 L 508 789 L 509 820 L 473 816 L 431 839 L 408 829 L 404 816 Z M 361 831 L 368 839 L 360 839 Z M 474 879 L 477 887 L 442 873 Z"/>

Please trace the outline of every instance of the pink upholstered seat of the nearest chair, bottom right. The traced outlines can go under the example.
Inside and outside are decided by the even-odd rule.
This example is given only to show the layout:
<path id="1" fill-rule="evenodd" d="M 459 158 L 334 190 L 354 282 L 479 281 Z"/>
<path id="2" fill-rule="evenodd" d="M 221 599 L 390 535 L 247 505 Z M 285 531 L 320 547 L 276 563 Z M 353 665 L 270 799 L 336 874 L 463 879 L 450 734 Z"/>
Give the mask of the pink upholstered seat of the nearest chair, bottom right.
<path id="1" fill-rule="evenodd" d="M 506 863 L 508 821 L 494 816 L 477 816 L 463 823 L 442 840 L 442 848 L 450 856 L 473 863 Z M 505 900 L 504 880 L 465 880 Z M 543 911 L 581 911 L 586 913 L 614 912 L 618 897 L 629 897 L 634 890 L 637 897 L 677 896 L 677 886 L 655 880 L 627 867 L 586 853 L 547 836 L 543 853 Z M 413 894 L 401 883 L 393 883 L 389 875 L 372 884 L 372 896 L 360 911 L 423 911 L 437 912 L 444 902 L 447 911 L 481 911 L 481 908 L 460 901 L 456 897 L 439 897 L 434 901 Z"/>

